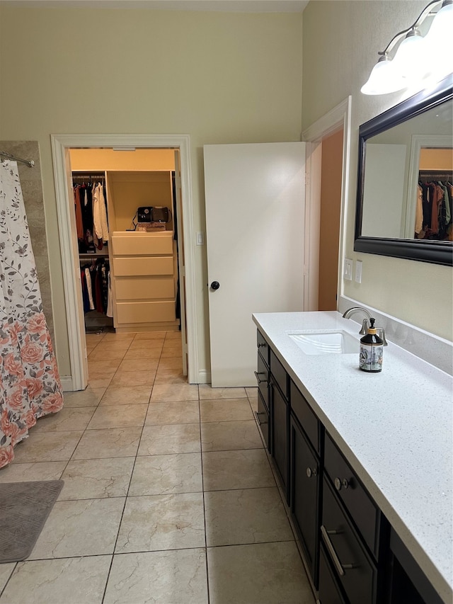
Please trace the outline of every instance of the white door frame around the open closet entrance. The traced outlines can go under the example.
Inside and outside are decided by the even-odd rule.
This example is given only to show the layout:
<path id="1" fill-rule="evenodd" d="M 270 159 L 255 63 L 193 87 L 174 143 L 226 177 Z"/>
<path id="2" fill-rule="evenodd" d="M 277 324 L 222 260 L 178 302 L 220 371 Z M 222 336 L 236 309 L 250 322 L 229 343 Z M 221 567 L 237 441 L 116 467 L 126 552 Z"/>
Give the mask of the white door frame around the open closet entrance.
<path id="1" fill-rule="evenodd" d="M 57 198 L 57 218 L 62 270 L 64 300 L 66 307 L 67 331 L 69 339 L 69 363 L 71 366 L 72 390 L 86 387 L 86 346 L 82 342 L 84 333 L 84 314 L 81 304 L 80 275 L 77 275 L 74 259 L 78 253 L 76 247 L 75 219 L 72 209 L 73 200 L 70 174 L 68 173 L 67 154 L 69 149 L 86 147 L 131 147 L 136 149 L 179 149 L 181 191 L 183 198 L 183 217 L 178 225 L 183 229 L 185 266 L 185 327 L 188 341 L 188 382 L 198 380 L 198 342 L 196 329 L 195 304 L 195 251 L 194 241 L 192 176 L 190 170 L 189 135 L 51 135 L 52 162 L 55 175 L 55 195 Z M 178 217 L 179 219 L 179 217 Z M 181 321 L 184 318 L 181 317 Z M 183 351 L 184 352 L 184 351 Z"/>

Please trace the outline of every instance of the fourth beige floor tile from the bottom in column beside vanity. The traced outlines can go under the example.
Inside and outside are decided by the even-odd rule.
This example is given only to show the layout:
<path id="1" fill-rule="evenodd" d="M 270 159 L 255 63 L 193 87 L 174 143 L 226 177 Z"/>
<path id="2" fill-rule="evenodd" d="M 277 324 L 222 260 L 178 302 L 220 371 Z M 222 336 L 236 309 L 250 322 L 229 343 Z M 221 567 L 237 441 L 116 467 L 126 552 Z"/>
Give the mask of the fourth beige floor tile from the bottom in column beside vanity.
<path id="1" fill-rule="evenodd" d="M 256 422 L 214 421 L 201 425 L 201 450 L 226 451 L 263 448 Z"/>

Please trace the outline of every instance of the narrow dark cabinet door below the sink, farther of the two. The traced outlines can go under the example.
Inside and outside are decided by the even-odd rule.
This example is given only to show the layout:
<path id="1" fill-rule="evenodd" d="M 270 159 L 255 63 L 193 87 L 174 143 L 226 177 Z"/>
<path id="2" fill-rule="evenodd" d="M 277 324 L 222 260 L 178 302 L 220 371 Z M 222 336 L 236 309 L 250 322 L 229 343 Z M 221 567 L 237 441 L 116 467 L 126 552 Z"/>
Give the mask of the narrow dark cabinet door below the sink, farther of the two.
<path id="1" fill-rule="evenodd" d="M 277 471 L 280 474 L 280 481 L 288 498 L 288 404 L 282 396 L 280 390 L 271 382 L 271 429 L 273 440 L 273 457 Z"/>

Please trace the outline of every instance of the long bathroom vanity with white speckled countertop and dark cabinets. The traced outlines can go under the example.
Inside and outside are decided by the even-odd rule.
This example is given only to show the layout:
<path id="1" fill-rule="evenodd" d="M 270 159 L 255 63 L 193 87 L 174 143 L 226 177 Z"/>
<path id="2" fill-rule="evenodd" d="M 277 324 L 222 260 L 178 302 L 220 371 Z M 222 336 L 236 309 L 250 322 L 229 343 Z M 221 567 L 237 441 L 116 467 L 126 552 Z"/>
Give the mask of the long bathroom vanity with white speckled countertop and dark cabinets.
<path id="1" fill-rule="evenodd" d="M 392 343 L 360 371 L 338 312 L 253 321 L 257 420 L 319 602 L 451 603 L 452 377 Z"/>

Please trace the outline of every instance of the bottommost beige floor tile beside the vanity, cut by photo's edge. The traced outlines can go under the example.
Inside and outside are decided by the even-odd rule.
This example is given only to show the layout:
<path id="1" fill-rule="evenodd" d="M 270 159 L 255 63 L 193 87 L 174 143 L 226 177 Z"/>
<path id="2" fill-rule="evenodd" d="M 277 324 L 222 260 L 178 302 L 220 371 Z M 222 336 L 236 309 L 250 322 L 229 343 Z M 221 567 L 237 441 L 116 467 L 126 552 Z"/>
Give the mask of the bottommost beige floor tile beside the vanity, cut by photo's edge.
<path id="1" fill-rule="evenodd" d="M 314 604 L 294 541 L 210 547 L 211 604 Z"/>

